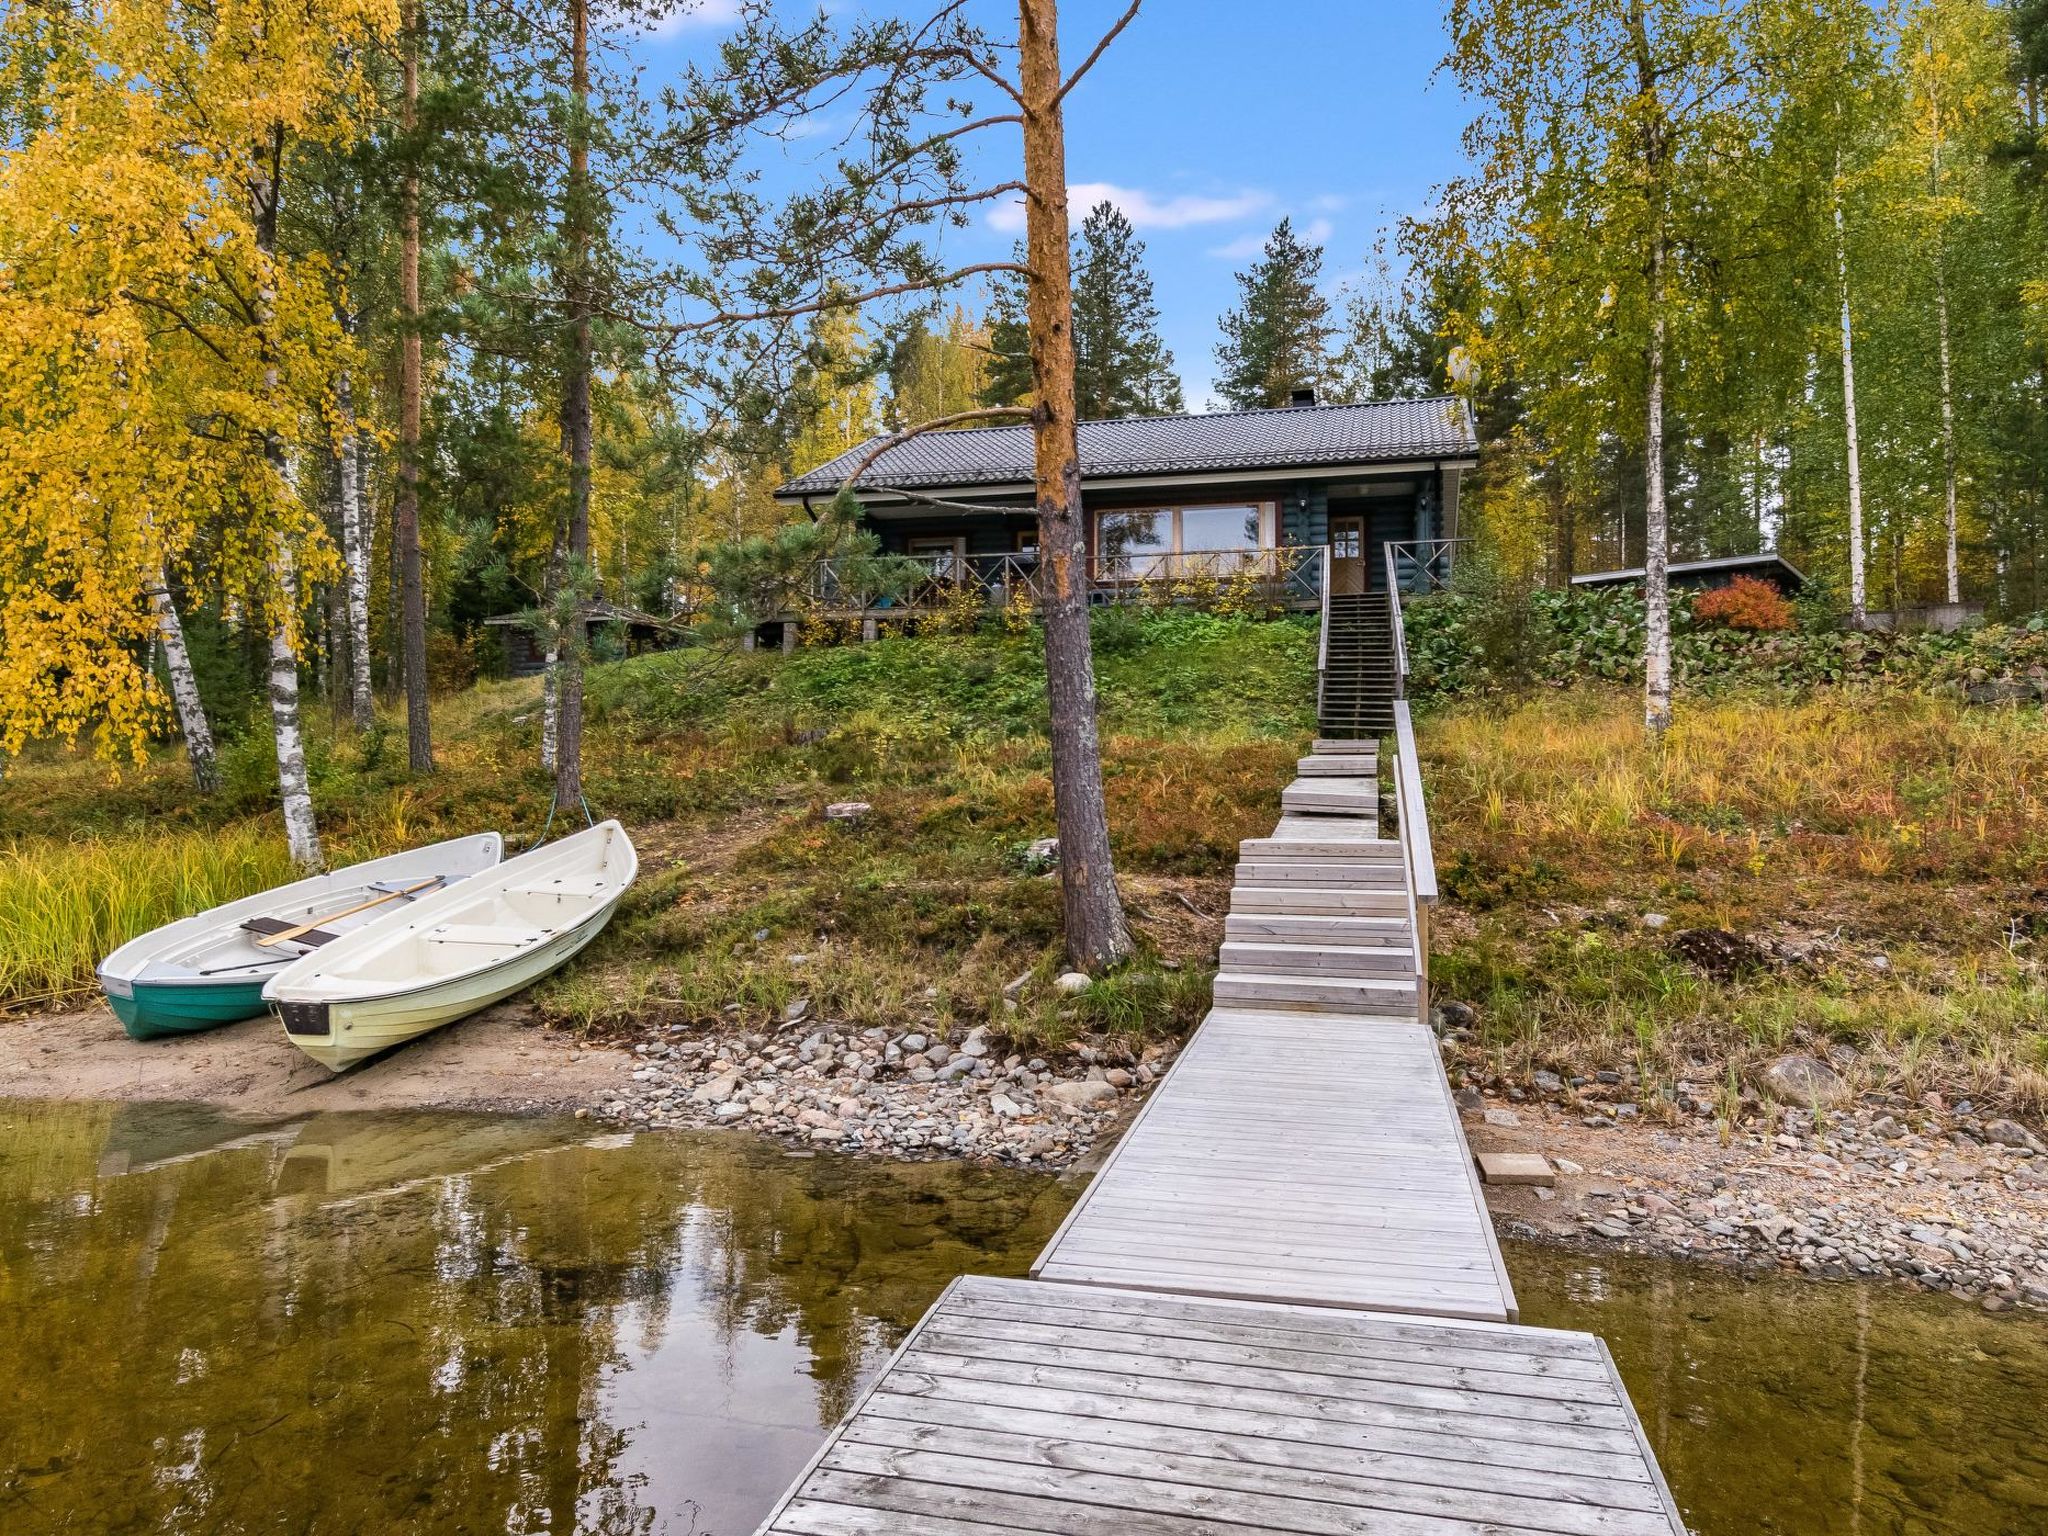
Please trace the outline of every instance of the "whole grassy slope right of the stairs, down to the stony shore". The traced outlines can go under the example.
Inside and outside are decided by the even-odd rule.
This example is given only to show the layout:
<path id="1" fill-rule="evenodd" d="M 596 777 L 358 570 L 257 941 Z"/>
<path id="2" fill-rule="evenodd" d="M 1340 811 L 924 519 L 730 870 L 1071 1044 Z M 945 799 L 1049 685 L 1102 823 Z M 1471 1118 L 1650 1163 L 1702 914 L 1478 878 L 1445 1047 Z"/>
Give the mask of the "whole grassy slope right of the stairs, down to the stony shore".
<path id="1" fill-rule="evenodd" d="M 2048 1110 L 2040 711 L 1692 698 L 1657 745 L 1630 694 L 1573 690 L 1444 711 L 1421 750 L 1436 987 L 1495 1067 L 1626 1063 L 1655 1092 L 1806 1049 Z"/>

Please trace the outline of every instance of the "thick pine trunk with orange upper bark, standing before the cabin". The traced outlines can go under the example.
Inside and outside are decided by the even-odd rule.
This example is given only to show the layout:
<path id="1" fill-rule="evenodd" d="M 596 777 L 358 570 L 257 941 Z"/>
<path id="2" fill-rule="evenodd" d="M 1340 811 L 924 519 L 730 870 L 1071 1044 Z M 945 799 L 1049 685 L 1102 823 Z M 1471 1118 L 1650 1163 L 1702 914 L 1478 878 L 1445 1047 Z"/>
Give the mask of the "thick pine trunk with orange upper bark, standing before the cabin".
<path id="1" fill-rule="evenodd" d="M 1018 0 L 1024 86 L 1026 250 L 1044 676 L 1053 727 L 1053 819 L 1059 831 L 1067 958 L 1096 969 L 1130 954 L 1130 928 L 1110 862 L 1096 727 L 1096 659 L 1087 633 L 1087 532 L 1073 401 L 1073 276 L 1067 223 L 1067 131 L 1061 113 L 1055 0 Z"/>

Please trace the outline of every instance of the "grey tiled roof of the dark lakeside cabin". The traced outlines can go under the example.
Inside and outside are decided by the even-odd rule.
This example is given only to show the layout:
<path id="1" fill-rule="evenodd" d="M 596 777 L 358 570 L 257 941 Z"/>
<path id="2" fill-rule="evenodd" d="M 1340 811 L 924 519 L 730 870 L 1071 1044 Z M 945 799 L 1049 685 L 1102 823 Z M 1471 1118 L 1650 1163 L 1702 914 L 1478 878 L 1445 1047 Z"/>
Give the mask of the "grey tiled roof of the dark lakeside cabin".
<path id="1" fill-rule="evenodd" d="M 872 449 L 850 449 L 776 496 L 829 496 Z M 1395 459 L 1468 459 L 1479 453 L 1464 401 L 1382 399 L 1366 406 L 1288 406 L 1206 416 L 1124 416 L 1081 422 L 1081 479 L 1196 475 L 1229 469 L 1303 469 Z M 1032 477 L 1028 426 L 926 432 L 889 449 L 860 487 L 1012 485 Z"/>

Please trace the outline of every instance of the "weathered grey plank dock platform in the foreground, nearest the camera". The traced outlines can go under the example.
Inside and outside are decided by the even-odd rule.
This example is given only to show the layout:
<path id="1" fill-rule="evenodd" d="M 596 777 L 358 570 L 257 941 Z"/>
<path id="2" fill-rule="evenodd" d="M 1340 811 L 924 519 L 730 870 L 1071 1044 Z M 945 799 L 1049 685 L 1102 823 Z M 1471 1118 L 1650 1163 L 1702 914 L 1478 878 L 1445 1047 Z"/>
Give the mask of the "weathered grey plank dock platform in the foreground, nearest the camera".
<path id="1" fill-rule="evenodd" d="M 952 1282 L 764 1536 L 1683 1536 L 1587 1333 Z"/>

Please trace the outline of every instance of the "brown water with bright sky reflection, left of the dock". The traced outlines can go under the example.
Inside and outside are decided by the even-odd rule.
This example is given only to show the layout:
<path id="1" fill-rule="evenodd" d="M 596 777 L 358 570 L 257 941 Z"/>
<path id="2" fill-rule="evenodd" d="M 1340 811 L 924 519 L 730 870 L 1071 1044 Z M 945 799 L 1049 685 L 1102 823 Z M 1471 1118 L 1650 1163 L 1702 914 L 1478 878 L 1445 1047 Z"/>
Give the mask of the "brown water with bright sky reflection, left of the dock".
<path id="1" fill-rule="evenodd" d="M 573 1122 L 12 1108 L 0 1528 L 752 1528 L 1065 1196 Z"/>

